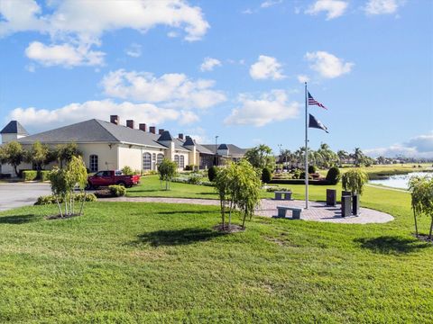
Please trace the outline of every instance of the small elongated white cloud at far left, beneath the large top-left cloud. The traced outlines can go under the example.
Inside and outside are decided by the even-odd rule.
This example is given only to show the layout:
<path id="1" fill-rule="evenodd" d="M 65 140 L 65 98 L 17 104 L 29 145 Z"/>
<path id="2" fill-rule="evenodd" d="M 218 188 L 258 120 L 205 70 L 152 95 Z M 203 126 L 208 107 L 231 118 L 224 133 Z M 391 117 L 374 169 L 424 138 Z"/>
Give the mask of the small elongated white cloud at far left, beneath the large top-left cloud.
<path id="1" fill-rule="evenodd" d="M 33 41 L 25 49 L 25 55 L 46 67 L 54 65 L 78 67 L 102 65 L 105 53 L 89 50 L 88 46 L 83 45 L 73 47 L 65 43 L 46 46 L 39 41 Z"/>

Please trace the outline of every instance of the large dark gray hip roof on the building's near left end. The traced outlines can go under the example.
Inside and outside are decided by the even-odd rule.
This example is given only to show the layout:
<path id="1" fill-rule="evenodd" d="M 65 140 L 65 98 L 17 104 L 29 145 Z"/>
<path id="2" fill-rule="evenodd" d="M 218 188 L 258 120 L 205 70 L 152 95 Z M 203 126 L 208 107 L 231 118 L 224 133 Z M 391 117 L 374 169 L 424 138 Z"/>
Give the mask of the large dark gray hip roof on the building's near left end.
<path id="1" fill-rule="evenodd" d="M 33 143 L 37 140 L 42 143 L 97 143 L 97 142 L 125 142 L 140 144 L 156 148 L 164 148 L 157 142 L 158 135 L 134 130 L 126 126 L 115 125 L 108 121 L 92 119 L 81 121 L 55 130 L 43 131 L 39 134 L 19 139 L 22 143 Z"/>

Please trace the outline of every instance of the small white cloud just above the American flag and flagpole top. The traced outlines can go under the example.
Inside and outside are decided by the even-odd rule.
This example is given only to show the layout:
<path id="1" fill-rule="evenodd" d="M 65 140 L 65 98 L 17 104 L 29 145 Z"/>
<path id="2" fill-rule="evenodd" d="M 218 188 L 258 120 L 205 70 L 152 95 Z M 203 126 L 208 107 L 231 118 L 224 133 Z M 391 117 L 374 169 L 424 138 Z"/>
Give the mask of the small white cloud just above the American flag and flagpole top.
<path id="1" fill-rule="evenodd" d="M 337 58 L 335 55 L 320 50 L 308 52 L 305 54 L 305 58 L 311 62 L 309 66 L 311 69 L 318 72 L 320 76 L 327 78 L 343 76 L 349 73 L 355 65 L 354 63 L 345 62 L 342 58 Z"/>

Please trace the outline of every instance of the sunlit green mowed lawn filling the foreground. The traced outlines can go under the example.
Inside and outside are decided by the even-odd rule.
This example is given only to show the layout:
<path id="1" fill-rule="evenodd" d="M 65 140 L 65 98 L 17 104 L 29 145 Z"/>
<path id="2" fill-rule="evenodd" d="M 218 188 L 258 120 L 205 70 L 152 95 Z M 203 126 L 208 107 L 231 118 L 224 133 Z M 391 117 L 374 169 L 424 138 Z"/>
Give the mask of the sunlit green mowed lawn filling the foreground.
<path id="1" fill-rule="evenodd" d="M 93 202 L 69 220 L 45 220 L 54 206 L 5 211 L 0 322 L 431 323 L 433 247 L 411 236 L 410 195 L 368 187 L 363 204 L 396 220 L 257 217 L 224 235 L 211 206 Z"/>

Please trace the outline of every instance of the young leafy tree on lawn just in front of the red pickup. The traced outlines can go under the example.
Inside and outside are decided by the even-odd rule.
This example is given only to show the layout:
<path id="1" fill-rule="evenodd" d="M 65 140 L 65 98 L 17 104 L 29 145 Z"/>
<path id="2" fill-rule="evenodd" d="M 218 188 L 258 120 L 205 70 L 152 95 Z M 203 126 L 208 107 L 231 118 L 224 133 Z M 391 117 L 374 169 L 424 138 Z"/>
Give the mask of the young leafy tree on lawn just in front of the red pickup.
<path id="1" fill-rule="evenodd" d="M 50 173 L 51 191 L 56 197 L 60 217 L 73 215 L 75 212 L 74 187 L 83 192 L 88 183 L 88 171 L 81 157 L 71 157 L 65 168 L 54 168 Z M 83 211 L 86 193 L 83 195 L 79 215 Z M 62 210 L 60 202 L 64 202 Z"/>

